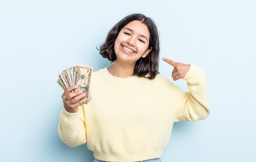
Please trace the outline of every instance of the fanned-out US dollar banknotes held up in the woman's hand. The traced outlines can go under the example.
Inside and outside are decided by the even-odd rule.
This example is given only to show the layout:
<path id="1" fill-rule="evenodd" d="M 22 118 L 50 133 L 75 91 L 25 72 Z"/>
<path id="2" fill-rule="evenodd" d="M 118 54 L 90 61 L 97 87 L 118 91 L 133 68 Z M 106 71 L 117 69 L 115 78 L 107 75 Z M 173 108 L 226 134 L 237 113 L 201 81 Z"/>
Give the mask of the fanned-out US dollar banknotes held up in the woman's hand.
<path id="1" fill-rule="evenodd" d="M 81 90 L 83 93 L 86 93 L 86 98 L 84 104 L 87 104 L 90 101 L 90 80 L 91 80 L 92 68 L 86 65 L 75 65 L 67 67 L 62 70 L 58 75 L 56 83 L 63 89 L 67 89 L 71 85 L 78 85 L 79 87 L 73 92 Z"/>

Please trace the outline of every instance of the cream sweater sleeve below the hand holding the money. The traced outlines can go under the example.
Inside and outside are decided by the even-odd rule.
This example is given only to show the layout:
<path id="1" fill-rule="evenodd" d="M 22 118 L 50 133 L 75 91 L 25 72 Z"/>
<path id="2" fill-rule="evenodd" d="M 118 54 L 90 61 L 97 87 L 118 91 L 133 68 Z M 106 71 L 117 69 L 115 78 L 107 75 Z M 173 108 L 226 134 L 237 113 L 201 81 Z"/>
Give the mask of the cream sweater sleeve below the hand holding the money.
<path id="1" fill-rule="evenodd" d="M 79 111 L 69 113 L 65 108 L 59 115 L 58 134 L 65 144 L 76 147 L 86 142 L 85 118 L 83 106 L 79 106 Z"/>

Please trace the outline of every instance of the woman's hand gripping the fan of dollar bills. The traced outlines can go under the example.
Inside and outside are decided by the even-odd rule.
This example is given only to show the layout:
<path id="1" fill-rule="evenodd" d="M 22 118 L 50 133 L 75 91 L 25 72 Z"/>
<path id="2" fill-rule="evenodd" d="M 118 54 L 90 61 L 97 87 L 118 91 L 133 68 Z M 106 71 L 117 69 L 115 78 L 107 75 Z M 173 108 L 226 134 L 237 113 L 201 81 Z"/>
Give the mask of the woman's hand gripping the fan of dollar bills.
<path id="1" fill-rule="evenodd" d="M 78 85 L 72 85 L 68 87 L 64 93 L 62 94 L 62 99 L 64 103 L 64 107 L 67 110 L 67 112 L 75 113 L 78 110 L 78 106 L 85 103 L 87 100 L 86 93 L 82 93 L 82 91 L 73 92 L 78 88 Z"/>

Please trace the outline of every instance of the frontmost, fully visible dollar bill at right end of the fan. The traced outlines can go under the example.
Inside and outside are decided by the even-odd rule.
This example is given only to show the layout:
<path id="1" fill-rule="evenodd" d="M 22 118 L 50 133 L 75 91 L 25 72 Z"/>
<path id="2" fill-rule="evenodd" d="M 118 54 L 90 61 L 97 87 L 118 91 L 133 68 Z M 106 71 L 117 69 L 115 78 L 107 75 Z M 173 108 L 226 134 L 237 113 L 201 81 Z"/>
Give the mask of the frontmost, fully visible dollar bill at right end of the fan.
<path id="1" fill-rule="evenodd" d="M 79 87 L 74 90 L 74 92 L 81 90 L 83 93 L 86 93 L 86 98 L 88 99 L 83 104 L 88 104 L 89 102 L 89 93 L 90 93 L 90 80 L 91 80 L 92 68 L 84 65 L 76 65 L 76 70 L 74 74 L 74 85 Z"/>

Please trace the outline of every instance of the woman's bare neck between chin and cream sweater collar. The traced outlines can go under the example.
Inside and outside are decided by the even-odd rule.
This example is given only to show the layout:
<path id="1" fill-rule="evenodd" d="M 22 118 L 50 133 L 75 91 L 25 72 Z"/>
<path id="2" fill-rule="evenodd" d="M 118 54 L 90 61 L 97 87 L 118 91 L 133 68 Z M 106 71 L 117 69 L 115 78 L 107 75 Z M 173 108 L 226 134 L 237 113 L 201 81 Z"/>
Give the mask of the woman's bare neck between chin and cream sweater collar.
<path id="1" fill-rule="evenodd" d="M 112 66 L 108 67 L 108 72 L 115 77 L 132 77 L 134 73 L 134 65 L 122 64 L 114 61 Z"/>

